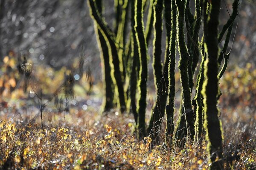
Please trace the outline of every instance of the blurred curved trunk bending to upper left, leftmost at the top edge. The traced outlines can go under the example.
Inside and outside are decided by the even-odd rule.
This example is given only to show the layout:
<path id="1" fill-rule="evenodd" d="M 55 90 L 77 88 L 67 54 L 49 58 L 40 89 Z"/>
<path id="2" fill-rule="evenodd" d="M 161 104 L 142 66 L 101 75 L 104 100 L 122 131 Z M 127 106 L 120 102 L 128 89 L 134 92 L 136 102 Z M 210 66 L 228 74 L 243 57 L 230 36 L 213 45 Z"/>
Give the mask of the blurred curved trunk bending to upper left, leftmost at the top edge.
<path id="1" fill-rule="evenodd" d="M 126 110 L 126 102 L 125 102 L 125 93 L 123 88 L 123 81 L 122 81 L 122 73 L 120 71 L 120 65 L 119 65 L 119 56 L 117 52 L 117 46 L 116 46 L 116 39 L 111 31 L 110 28 L 108 28 L 107 24 L 104 22 L 104 19 L 100 16 L 99 11 L 96 7 L 95 0 L 88 0 L 88 4 L 90 7 L 90 13 L 93 17 L 94 21 L 97 23 L 98 28 L 102 32 L 102 35 L 104 35 L 104 38 L 108 44 L 109 48 L 109 55 L 111 56 L 112 62 L 113 62 L 113 77 L 114 83 L 116 83 L 117 91 L 119 94 L 119 107 L 121 109 L 121 112 L 124 112 Z"/>

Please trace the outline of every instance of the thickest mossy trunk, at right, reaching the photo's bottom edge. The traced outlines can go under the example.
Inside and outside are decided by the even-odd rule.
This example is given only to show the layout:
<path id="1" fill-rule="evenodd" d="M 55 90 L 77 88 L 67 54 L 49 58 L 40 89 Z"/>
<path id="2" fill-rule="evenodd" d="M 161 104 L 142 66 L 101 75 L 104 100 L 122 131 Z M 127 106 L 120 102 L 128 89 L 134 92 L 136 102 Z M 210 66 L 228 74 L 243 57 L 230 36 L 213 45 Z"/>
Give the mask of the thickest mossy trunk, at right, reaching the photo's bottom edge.
<path id="1" fill-rule="evenodd" d="M 221 0 L 211 1 L 205 26 L 205 50 L 207 60 L 204 65 L 204 127 L 208 142 L 211 170 L 223 169 L 221 123 L 218 119 L 218 17 Z"/>

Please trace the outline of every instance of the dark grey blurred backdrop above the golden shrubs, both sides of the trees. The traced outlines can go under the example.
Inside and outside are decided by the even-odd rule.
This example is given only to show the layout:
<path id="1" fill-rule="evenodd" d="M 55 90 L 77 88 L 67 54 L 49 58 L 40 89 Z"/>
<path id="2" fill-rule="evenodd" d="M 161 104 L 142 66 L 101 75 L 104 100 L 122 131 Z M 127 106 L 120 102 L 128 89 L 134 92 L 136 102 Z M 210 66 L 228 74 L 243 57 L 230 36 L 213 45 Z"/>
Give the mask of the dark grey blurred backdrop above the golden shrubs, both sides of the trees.
<path id="1" fill-rule="evenodd" d="M 232 13 L 232 2 L 222 1 L 221 25 L 228 18 L 227 10 Z M 114 2 L 103 3 L 105 19 L 112 26 Z M 240 4 L 239 19 L 234 24 L 237 29 L 233 28 L 231 36 L 235 37 L 230 63 L 244 67 L 250 62 L 255 66 L 256 1 L 240 0 Z M 93 74 L 100 75 L 99 50 L 86 0 L 1 0 L 0 8 L 1 62 L 10 52 L 18 56 L 25 51 L 34 64 L 59 69 L 83 52 Z"/>

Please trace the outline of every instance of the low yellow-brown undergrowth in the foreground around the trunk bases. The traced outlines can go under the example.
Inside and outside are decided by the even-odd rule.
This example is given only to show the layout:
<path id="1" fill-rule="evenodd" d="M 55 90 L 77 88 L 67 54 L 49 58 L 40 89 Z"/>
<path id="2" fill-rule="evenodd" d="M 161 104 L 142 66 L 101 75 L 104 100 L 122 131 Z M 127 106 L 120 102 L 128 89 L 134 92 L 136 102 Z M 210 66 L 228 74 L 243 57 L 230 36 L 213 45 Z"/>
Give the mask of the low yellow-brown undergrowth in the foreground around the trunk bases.
<path id="1" fill-rule="evenodd" d="M 31 123 L 29 116 L 18 114 L 11 120 L 1 120 L 2 169 L 208 168 L 204 141 L 182 149 L 153 147 L 150 138 L 138 141 L 134 137 L 131 115 L 113 112 L 102 117 L 92 111 L 71 111 L 63 127 L 63 114 L 47 114 L 44 130 L 39 120 Z M 229 116 L 223 116 L 222 122 L 225 167 L 255 168 L 255 119 L 232 122 Z"/>

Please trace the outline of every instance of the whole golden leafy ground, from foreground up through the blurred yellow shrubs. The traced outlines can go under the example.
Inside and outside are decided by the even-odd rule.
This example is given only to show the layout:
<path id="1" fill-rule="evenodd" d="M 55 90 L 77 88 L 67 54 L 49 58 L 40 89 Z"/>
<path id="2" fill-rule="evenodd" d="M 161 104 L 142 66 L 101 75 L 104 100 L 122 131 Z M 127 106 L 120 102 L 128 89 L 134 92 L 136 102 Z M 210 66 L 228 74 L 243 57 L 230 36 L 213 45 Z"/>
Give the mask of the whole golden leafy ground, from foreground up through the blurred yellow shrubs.
<path id="1" fill-rule="evenodd" d="M 12 79 L 10 72 L 0 79 L 9 83 L 2 83 L 1 86 L 0 169 L 208 169 L 207 143 L 204 139 L 200 144 L 186 143 L 183 148 L 165 148 L 163 142 L 153 146 L 149 137 L 142 141 L 136 138 L 132 114 L 121 114 L 118 110 L 101 114 L 100 84 L 94 85 L 93 92 L 87 95 L 88 88 L 83 87 L 88 84 L 81 78 L 83 83 L 75 86 L 76 97 L 70 99 L 69 111 L 64 113 L 60 108 L 67 108 L 63 105 L 65 100 L 58 98 L 61 102 L 56 102 L 55 99 L 54 104 L 51 96 L 47 95 L 54 93 L 53 87 L 58 87 L 57 82 L 63 78 L 52 75 L 61 75 L 61 71 L 55 73 L 47 69 L 47 75 L 44 75 L 43 70 L 38 69 L 34 73 L 40 79 L 30 81 L 26 94 L 23 94 L 21 85 L 18 88 L 20 82 Z M 179 77 L 176 78 L 178 81 Z M 15 90 L 12 89 L 14 83 L 17 86 Z M 32 85 L 40 83 L 44 87 L 43 97 L 37 92 L 39 86 L 37 90 L 32 88 Z M 234 67 L 225 73 L 220 87 L 225 169 L 255 169 L 256 69 L 250 64 L 243 69 Z M 147 121 L 154 98 L 150 96 Z M 44 106 L 43 128 L 40 98 Z M 178 100 L 175 101 L 176 114 Z M 163 129 L 164 125 L 165 121 Z M 163 138 L 164 133 L 161 135 Z"/>

